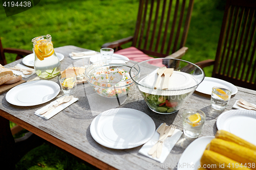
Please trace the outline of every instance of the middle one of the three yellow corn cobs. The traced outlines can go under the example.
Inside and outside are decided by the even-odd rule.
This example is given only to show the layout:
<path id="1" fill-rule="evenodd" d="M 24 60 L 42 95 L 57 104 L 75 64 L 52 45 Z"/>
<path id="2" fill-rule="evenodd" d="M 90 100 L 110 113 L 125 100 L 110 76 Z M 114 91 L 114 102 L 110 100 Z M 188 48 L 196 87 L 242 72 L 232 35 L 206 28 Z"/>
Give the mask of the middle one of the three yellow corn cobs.
<path id="1" fill-rule="evenodd" d="M 248 165 L 248 163 L 254 163 L 255 165 L 256 163 L 256 151 L 223 139 L 212 139 L 210 142 L 210 151 L 214 151 L 243 164 L 246 163 Z M 251 167 L 251 169 L 256 169 L 256 165 L 254 168 Z"/>

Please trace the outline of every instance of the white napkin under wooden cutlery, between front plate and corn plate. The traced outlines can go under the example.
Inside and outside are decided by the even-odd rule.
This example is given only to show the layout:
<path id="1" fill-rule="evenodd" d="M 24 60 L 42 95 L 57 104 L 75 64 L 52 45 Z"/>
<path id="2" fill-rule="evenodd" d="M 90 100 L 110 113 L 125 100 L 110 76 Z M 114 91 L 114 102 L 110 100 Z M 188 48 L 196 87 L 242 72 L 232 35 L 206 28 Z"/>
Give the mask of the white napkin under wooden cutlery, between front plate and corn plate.
<path id="1" fill-rule="evenodd" d="M 162 124 L 161 124 L 162 125 Z M 161 126 L 160 125 L 160 126 Z M 160 127 L 159 126 L 159 127 Z M 159 128 L 158 127 L 158 128 Z M 157 128 L 157 129 L 158 129 Z M 151 155 L 148 155 L 148 151 L 150 151 L 150 149 L 157 143 L 158 139 L 159 139 L 159 133 L 155 132 L 154 136 L 148 141 L 146 142 L 142 148 L 139 150 L 139 153 L 147 156 L 151 159 L 154 159 L 158 162 L 163 163 L 165 161 L 165 159 L 167 158 L 167 156 L 169 155 L 170 151 L 172 151 L 172 149 L 174 148 L 174 145 L 177 143 L 177 141 L 179 140 L 179 138 L 181 137 L 183 132 L 181 132 L 180 130 L 176 129 L 173 133 L 172 136 L 167 137 L 164 142 L 163 142 L 163 148 L 162 148 L 162 154 L 160 156 L 160 158 L 153 158 Z"/>

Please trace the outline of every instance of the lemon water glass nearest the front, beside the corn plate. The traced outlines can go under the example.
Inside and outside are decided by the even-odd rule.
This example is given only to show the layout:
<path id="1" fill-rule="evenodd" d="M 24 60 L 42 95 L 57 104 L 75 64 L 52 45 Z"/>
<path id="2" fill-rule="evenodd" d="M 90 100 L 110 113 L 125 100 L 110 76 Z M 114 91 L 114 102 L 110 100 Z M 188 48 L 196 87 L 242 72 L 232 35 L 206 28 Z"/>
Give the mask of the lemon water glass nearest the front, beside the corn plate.
<path id="1" fill-rule="evenodd" d="M 203 129 L 205 114 L 201 110 L 187 109 L 182 114 L 183 132 L 190 138 L 198 137 Z"/>

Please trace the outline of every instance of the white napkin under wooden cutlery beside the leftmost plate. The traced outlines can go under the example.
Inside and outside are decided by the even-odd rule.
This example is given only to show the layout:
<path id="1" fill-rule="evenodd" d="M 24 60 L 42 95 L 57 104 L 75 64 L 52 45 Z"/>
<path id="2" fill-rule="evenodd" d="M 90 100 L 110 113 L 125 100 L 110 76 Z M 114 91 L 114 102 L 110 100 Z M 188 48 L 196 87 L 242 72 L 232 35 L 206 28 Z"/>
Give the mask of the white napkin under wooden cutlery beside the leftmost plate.
<path id="1" fill-rule="evenodd" d="M 66 96 L 66 95 L 63 95 L 63 96 L 61 96 L 60 98 L 62 98 L 62 97 L 64 97 L 64 96 Z M 57 100 L 58 100 L 58 99 L 57 99 Z M 46 105 L 45 107 L 42 107 L 41 109 L 36 110 L 34 114 L 37 115 L 37 116 L 40 116 L 40 117 L 42 117 L 42 118 L 49 119 L 49 118 L 51 118 L 52 116 L 54 116 L 55 114 L 57 114 L 58 112 L 60 112 L 61 110 L 65 109 L 66 107 L 68 107 L 68 106 L 70 106 L 71 104 L 75 103 L 76 101 L 78 101 L 78 98 L 73 98 L 73 99 L 72 99 L 71 101 L 69 101 L 68 103 L 63 103 L 63 104 L 61 104 L 60 106 L 56 107 L 56 108 L 55 108 L 50 114 L 48 114 L 47 116 L 44 116 L 44 114 L 43 114 L 43 115 L 40 115 L 40 112 L 41 112 L 41 111 L 44 111 L 44 110 L 46 110 L 47 108 L 49 108 L 49 107 L 53 106 L 54 104 L 56 104 L 57 101 L 55 100 L 55 101 L 51 102 L 49 105 Z"/>

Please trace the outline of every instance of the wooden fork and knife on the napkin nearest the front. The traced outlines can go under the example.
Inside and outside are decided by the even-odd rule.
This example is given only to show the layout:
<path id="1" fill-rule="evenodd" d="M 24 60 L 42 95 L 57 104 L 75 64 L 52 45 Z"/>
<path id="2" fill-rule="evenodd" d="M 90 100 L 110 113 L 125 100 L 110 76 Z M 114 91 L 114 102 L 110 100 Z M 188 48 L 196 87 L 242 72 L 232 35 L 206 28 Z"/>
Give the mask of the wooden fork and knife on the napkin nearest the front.
<path id="1" fill-rule="evenodd" d="M 151 148 L 151 150 L 148 151 L 148 155 L 152 155 L 153 158 L 155 157 L 160 158 L 164 140 L 167 137 L 172 136 L 175 129 L 176 129 L 176 126 L 174 125 L 166 126 L 165 123 L 162 124 L 157 129 L 157 132 L 159 133 L 159 139 L 157 143 Z"/>

